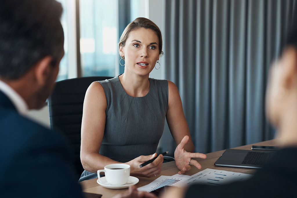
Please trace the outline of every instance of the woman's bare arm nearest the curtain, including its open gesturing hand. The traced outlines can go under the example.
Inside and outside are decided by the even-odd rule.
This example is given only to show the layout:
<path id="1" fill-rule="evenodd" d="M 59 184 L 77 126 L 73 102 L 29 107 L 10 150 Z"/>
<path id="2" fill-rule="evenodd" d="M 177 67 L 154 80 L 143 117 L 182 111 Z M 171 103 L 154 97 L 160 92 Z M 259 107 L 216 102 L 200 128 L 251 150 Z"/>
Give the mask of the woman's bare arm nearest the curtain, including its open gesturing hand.
<path id="1" fill-rule="evenodd" d="M 168 80 L 168 110 L 166 114 L 167 123 L 173 139 L 177 145 L 174 151 L 175 163 L 180 170 L 178 174 L 183 174 L 185 171 L 190 170 L 189 163 L 201 168 L 201 165 L 192 158 L 206 158 L 203 153 L 194 152 L 194 144 L 189 132 L 189 127 L 184 116 L 184 111 L 181 103 L 176 85 Z"/>

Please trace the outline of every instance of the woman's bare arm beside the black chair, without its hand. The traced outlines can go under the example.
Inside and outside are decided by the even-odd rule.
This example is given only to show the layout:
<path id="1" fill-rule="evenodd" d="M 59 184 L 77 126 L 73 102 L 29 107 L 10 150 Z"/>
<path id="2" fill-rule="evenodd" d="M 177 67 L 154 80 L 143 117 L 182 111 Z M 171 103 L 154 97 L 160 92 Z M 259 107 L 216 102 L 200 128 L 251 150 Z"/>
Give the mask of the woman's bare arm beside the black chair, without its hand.
<path id="1" fill-rule="evenodd" d="M 108 164 L 119 163 L 99 154 L 105 128 L 107 102 L 102 85 L 93 82 L 86 91 L 81 123 L 80 160 L 83 168 L 97 172 Z"/>

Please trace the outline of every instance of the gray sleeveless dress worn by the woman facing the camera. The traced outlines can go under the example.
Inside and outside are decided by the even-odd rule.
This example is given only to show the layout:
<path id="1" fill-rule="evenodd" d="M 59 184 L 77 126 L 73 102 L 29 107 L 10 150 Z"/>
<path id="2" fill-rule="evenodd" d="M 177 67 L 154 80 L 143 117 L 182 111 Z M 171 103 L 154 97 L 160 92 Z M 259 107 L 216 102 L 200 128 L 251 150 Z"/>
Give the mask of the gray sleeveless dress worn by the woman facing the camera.
<path id="1" fill-rule="evenodd" d="M 164 130 L 168 107 L 168 82 L 149 78 L 146 96 L 132 97 L 123 89 L 119 77 L 98 81 L 107 101 L 106 123 L 99 153 L 119 162 L 156 152 Z M 83 171 L 80 180 L 97 178 Z"/>

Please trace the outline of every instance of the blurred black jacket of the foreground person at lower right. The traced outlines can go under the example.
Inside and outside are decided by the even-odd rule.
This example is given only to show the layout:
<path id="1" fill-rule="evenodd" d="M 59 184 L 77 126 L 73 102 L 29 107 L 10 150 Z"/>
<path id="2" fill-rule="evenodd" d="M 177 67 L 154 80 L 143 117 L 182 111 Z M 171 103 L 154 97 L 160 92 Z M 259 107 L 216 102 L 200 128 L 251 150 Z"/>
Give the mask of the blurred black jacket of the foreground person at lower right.
<path id="1" fill-rule="evenodd" d="M 222 186 L 196 184 L 189 187 L 186 197 L 297 197 L 297 148 L 277 151 L 249 180 Z"/>

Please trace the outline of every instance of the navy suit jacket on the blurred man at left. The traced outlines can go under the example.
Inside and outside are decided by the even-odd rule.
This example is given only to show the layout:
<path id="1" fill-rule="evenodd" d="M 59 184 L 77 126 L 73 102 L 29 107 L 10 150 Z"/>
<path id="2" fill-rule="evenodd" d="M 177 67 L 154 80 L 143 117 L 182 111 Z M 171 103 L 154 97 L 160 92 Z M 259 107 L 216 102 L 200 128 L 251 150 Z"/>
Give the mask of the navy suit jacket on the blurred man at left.
<path id="1" fill-rule="evenodd" d="M 82 197 L 64 139 L 0 91 L 0 197 Z"/>

